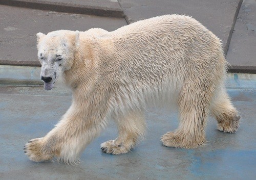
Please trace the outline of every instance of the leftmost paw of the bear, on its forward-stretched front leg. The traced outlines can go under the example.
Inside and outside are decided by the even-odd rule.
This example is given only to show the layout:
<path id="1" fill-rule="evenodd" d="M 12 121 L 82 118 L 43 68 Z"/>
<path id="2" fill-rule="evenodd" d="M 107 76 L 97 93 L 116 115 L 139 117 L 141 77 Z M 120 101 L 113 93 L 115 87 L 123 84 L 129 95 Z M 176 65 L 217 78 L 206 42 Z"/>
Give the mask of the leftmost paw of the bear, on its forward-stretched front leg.
<path id="1" fill-rule="evenodd" d="M 54 155 L 47 152 L 47 150 L 44 148 L 42 138 L 30 140 L 24 146 L 24 152 L 31 161 L 35 162 L 49 161 L 54 157 Z"/>

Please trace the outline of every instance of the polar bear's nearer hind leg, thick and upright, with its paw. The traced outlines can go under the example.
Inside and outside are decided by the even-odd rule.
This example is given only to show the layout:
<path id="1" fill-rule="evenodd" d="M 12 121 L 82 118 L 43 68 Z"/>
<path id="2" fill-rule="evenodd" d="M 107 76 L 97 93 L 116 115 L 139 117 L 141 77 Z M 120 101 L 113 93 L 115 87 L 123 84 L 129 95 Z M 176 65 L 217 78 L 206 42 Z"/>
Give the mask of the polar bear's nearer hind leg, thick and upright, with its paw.
<path id="1" fill-rule="evenodd" d="M 163 145 L 195 148 L 206 142 L 204 129 L 212 96 L 209 88 L 193 82 L 185 83 L 178 98 L 179 127 L 161 137 Z"/>

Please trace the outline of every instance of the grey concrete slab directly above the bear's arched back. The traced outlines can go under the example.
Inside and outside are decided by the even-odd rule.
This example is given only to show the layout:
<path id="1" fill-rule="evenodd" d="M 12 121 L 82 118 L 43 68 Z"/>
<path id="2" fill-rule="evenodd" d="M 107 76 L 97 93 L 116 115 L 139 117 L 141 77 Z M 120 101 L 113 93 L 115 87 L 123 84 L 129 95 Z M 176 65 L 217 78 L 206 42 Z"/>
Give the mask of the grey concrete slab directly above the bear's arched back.
<path id="1" fill-rule="evenodd" d="M 134 22 L 163 14 L 193 16 L 223 41 L 227 52 L 230 32 L 242 0 L 119 0 L 127 20 Z"/>

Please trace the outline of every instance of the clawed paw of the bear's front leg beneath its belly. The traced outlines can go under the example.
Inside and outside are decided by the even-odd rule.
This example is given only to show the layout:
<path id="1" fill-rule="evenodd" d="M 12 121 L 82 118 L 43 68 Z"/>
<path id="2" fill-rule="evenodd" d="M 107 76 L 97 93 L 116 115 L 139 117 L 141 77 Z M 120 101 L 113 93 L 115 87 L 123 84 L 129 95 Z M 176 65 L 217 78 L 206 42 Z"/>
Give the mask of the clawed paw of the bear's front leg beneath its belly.
<path id="1" fill-rule="evenodd" d="M 112 155 L 120 155 L 130 152 L 132 147 L 124 145 L 124 143 L 117 143 L 115 140 L 109 140 L 101 144 L 101 150 Z"/>

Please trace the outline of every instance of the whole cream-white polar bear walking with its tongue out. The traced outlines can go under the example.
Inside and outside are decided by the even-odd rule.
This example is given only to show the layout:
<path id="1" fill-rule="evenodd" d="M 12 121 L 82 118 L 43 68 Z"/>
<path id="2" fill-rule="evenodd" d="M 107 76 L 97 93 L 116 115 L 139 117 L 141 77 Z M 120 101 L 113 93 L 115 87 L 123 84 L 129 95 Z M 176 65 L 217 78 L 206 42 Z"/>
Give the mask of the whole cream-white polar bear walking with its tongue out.
<path id="1" fill-rule="evenodd" d="M 129 152 L 145 133 L 146 106 L 155 101 L 178 107 L 177 130 L 161 137 L 168 147 L 204 144 L 209 115 L 220 131 L 234 133 L 239 126 L 224 87 L 227 62 L 220 39 L 189 16 L 158 16 L 113 32 L 38 33 L 37 42 L 45 89 L 62 82 L 73 101 L 52 131 L 25 145 L 32 161 L 77 163 L 109 118 L 119 135 L 102 143 L 102 151 Z"/>

